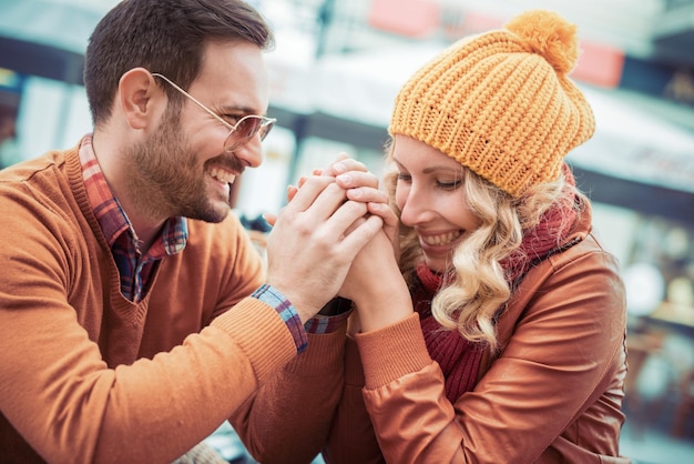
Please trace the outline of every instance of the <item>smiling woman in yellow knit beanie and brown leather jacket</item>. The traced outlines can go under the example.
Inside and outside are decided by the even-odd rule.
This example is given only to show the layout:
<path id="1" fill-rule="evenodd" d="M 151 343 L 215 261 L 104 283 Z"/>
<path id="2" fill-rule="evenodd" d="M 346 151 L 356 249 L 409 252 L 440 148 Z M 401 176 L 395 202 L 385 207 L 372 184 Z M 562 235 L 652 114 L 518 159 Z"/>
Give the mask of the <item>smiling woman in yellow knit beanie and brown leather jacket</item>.
<path id="1" fill-rule="evenodd" d="M 341 394 L 304 396 L 306 446 L 325 441 L 326 462 L 629 462 L 624 289 L 564 162 L 594 131 L 567 77 L 576 59 L 575 28 L 532 11 L 400 90 L 386 179 L 399 260 L 386 233 L 360 252 L 347 336 L 314 335 L 273 392 L 302 397 L 299 373 L 326 357 L 310 344 L 346 340 Z"/>

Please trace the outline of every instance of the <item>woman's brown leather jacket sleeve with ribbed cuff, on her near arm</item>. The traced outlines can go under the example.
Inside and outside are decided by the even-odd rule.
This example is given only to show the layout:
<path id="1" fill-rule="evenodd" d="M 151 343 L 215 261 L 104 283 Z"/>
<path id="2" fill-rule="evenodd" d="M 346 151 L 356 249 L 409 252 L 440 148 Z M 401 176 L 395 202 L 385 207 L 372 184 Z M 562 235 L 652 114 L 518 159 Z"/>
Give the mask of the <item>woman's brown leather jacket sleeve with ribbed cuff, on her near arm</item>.
<path id="1" fill-rule="evenodd" d="M 387 462 L 623 462 L 615 268 L 598 252 L 547 270 L 500 357 L 455 407 L 414 317 L 357 335 L 366 406 Z"/>

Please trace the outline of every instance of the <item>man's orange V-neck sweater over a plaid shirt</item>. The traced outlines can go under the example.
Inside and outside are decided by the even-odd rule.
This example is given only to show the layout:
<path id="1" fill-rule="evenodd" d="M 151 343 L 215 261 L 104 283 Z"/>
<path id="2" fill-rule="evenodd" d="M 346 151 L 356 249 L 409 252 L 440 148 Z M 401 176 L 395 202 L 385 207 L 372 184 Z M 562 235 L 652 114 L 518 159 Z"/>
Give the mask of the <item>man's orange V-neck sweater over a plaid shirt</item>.
<path id="1" fill-rule="evenodd" d="M 0 462 L 165 463 L 296 355 L 238 220 L 120 293 L 76 148 L 0 171 Z"/>

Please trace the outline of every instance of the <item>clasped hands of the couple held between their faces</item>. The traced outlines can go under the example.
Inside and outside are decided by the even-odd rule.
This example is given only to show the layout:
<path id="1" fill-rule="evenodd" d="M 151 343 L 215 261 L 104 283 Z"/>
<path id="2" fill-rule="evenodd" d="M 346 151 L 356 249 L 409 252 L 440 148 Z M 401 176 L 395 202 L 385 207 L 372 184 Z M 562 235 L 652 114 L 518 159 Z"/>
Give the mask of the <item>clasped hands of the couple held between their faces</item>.
<path id="1" fill-rule="evenodd" d="M 336 295 L 355 302 L 364 329 L 374 319 L 366 309 L 385 312 L 391 292 L 405 292 L 409 302 L 394 249 L 397 216 L 363 163 L 341 154 L 290 185 L 287 196 L 269 220 L 267 282 L 292 301 L 303 322 Z"/>

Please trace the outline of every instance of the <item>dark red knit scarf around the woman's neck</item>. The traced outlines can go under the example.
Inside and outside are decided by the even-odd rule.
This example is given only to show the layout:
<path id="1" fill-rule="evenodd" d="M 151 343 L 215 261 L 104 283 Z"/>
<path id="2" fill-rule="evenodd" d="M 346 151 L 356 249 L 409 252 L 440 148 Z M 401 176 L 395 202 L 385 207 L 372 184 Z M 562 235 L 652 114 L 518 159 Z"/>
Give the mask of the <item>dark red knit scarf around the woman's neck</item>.
<path id="1" fill-rule="evenodd" d="M 564 164 L 564 175 L 573 184 L 573 175 Z M 564 241 L 576 216 L 573 195 L 554 204 L 544 213 L 538 226 L 524 231 L 520 250 L 501 264 L 507 281 L 513 289 L 532 266 L 533 262 L 551 254 Z M 438 274 L 426 264 L 417 266 L 417 282 L 412 290 L 415 311 L 420 315 L 421 330 L 430 356 L 441 366 L 446 379 L 446 396 L 453 403 L 465 392 L 471 391 L 477 381 L 480 357 L 486 349 L 482 343 L 470 343 L 458 331 L 446 330 L 431 315 L 431 300 L 450 276 Z"/>

